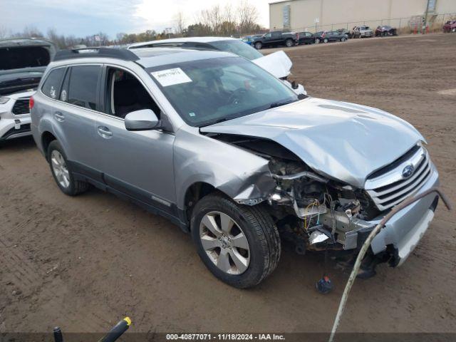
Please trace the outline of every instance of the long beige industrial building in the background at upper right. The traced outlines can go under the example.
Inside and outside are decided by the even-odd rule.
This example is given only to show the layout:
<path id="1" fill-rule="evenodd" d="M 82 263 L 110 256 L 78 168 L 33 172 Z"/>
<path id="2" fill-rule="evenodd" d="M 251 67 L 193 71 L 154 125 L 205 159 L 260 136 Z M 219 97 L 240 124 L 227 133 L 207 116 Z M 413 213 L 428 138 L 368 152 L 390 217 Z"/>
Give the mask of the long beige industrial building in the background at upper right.
<path id="1" fill-rule="evenodd" d="M 423 20 L 427 5 L 431 27 L 456 16 L 456 0 L 287 0 L 269 4 L 269 28 L 326 31 L 361 24 L 406 28 L 418 26 L 415 23 Z"/>

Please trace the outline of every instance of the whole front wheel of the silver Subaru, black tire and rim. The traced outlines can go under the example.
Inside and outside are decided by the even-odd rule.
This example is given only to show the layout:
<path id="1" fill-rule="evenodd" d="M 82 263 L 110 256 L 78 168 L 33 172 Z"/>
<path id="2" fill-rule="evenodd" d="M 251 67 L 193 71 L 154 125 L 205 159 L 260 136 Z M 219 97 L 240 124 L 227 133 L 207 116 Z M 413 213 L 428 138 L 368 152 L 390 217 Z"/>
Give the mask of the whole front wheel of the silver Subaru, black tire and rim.
<path id="1" fill-rule="evenodd" d="M 262 207 L 207 195 L 193 209 L 191 227 L 207 269 L 231 286 L 255 286 L 276 269 L 281 253 L 279 232 Z"/>

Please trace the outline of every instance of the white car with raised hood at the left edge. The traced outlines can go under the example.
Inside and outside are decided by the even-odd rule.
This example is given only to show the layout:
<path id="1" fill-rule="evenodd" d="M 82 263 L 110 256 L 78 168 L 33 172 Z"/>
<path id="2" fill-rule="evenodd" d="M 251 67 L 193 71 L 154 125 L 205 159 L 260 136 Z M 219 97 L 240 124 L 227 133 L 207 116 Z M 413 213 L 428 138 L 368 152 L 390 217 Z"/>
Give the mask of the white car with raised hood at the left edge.
<path id="1" fill-rule="evenodd" d="M 28 100 L 55 54 L 46 39 L 0 40 L 0 141 L 31 135 Z"/>

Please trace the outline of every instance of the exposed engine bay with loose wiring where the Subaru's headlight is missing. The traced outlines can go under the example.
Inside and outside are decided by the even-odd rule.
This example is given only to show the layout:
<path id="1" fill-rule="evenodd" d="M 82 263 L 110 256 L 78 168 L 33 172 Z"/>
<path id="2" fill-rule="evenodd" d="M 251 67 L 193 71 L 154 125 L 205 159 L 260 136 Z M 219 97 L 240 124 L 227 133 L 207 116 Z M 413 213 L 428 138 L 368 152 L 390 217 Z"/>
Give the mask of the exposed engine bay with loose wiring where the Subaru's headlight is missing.
<path id="1" fill-rule="evenodd" d="M 367 221 L 378 217 L 365 190 L 318 175 L 293 152 L 272 140 L 241 135 L 210 134 L 269 160 L 276 187 L 269 204 L 281 236 L 306 250 L 347 250 L 358 247 L 358 232 L 370 231 Z"/>

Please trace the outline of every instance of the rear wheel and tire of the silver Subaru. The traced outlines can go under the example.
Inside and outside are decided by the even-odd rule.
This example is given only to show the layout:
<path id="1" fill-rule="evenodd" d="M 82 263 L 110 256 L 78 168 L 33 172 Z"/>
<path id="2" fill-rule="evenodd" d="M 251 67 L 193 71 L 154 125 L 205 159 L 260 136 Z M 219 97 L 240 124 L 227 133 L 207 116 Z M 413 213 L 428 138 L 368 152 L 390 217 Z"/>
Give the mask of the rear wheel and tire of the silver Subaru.
<path id="1" fill-rule="evenodd" d="M 76 196 L 88 190 L 87 182 L 75 180 L 73 172 L 68 166 L 66 154 L 57 140 L 53 140 L 49 144 L 47 156 L 54 180 L 64 194 Z"/>

